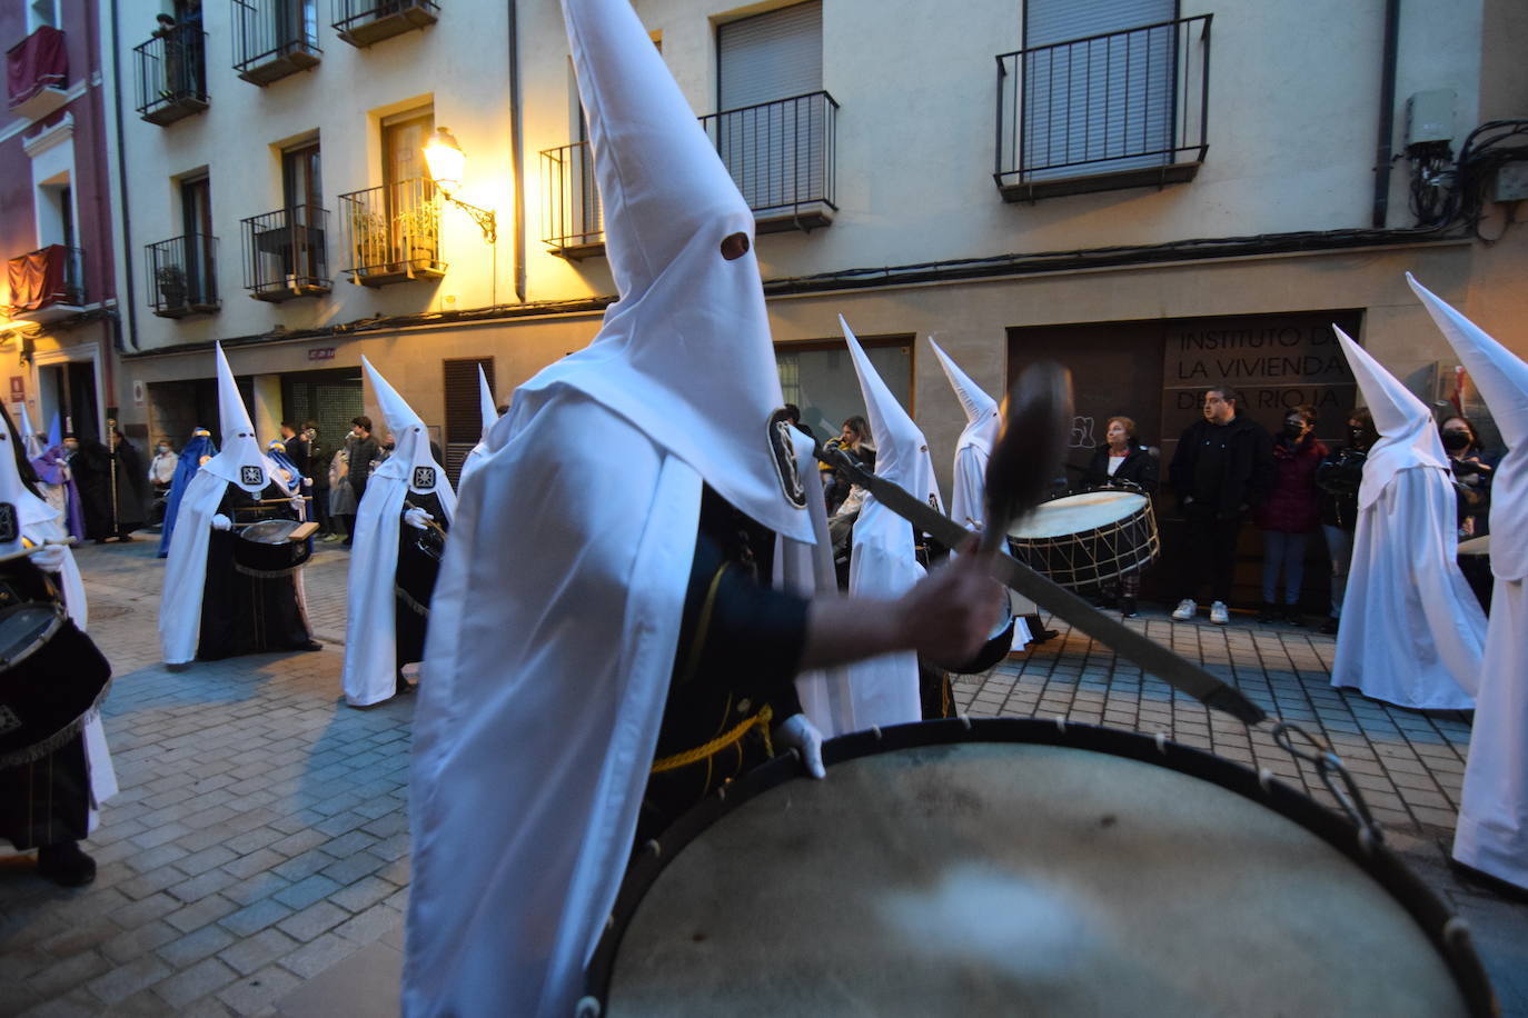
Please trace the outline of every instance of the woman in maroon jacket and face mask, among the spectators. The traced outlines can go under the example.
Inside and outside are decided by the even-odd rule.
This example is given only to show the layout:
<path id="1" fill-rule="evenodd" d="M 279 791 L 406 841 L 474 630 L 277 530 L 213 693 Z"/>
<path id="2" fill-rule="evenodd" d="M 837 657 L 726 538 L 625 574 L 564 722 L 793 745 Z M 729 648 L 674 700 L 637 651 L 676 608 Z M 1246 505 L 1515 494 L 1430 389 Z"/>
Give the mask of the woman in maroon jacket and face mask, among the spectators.
<path id="1" fill-rule="evenodd" d="M 1316 440 L 1316 408 L 1296 406 L 1284 415 L 1273 440 L 1274 481 L 1253 520 L 1262 530 L 1262 612 L 1259 623 L 1279 618 L 1279 574 L 1284 574 L 1284 621 L 1303 624 L 1300 581 L 1305 578 L 1305 543 L 1320 523 L 1316 469 L 1326 446 Z"/>

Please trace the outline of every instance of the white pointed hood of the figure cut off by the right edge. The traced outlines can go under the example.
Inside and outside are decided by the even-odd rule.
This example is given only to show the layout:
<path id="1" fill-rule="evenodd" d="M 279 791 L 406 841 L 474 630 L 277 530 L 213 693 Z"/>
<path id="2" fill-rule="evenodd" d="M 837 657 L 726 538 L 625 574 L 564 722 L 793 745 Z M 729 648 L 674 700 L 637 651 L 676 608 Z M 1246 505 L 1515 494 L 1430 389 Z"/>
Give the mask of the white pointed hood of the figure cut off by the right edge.
<path id="1" fill-rule="evenodd" d="M 1528 577 L 1528 540 L 1520 539 L 1528 528 L 1528 363 L 1439 301 L 1412 273 L 1406 273 L 1406 281 L 1464 362 L 1507 443 L 1507 455 L 1491 479 L 1491 530 L 1519 539 L 1493 542 L 1491 572 L 1522 580 Z"/>

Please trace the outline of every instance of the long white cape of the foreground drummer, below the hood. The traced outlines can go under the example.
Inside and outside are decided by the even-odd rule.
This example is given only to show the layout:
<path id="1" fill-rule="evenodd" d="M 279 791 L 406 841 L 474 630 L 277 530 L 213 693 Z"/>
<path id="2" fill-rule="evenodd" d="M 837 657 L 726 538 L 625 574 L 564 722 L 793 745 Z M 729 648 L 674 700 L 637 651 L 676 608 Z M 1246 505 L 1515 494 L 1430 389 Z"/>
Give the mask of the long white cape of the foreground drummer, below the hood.
<path id="1" fill-rule="evenodd" d="M 416 710 L 416 1016 L 571 1013 L 631 850 L 700 523 L 700 475 L 576 391 L 516 400 L 494 438 L 461 490 Z"/>

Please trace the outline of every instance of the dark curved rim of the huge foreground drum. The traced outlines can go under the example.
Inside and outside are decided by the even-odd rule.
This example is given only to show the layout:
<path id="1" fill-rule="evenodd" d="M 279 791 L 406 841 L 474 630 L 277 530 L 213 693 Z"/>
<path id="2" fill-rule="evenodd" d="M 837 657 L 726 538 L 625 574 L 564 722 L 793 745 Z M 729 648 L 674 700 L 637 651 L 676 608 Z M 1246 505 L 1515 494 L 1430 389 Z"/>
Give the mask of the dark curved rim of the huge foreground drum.
<path id="1" fill-rule="evenodd" d="M 941 720 L 914 722 L 888 728 L 839 736 L 822 743 L 822 763 L 833 768 L 837 763 L 860 757 L 879 755 L 897 749 L 941 746 L 961 742 L 1060 746 L 1166 766 L 1180 774 L 1196 777 L 1219 788 L 1273 809 L 1322 841 L 1348 856 L 1360 870 L 1369 875 L 1384 891 L 1406 910 L 1421 926 L 1433 949 L 1442 955 L 1455 986 L 1464 998 L 1468 1013 L 1488 1018 L 1499 1013 L 1496 995 L 1491 991 L 1485 968 L 1464 925 L 1444 905 L 1432 888 L 1423 884 L 1409 865 L 1384 844 L 1375 844 L 1360 836 L 1357 827 L 1340 813 L 1322 806 L 1303 791 L 1296 789 L 1268 772 L 1256 772 L 1232 760 L 1204 749 L 1195 749 L 1163 737 L 1144 736 L 1103 725 L 1073 723 L 1062 717 L 1041 720 L 1031 717 L 949 717 Z M 584 971 L 585 1001 L 593 1001 L 599 1015 L 610 998 L 610 981 L 616 969 L 620 942 L 646 897 L 652 884 L 668 868 L 685 847 L 701 832 L 730 813 L 743 803 L 753 800 L 787 781 L 805 778 L 805 769 L 796 751 L 775 757 L 747 772 L 730 786 L 717 789 L 694 809 L 688 810 L 659 838 L 637 849 L 626 868 L 616 896 L 616 904 L 605 920 L 588 968 Z M 808 778 L 810 780 L 810 778 Z M 576 1012 L 584 1015 L 585 1010 Z"/>

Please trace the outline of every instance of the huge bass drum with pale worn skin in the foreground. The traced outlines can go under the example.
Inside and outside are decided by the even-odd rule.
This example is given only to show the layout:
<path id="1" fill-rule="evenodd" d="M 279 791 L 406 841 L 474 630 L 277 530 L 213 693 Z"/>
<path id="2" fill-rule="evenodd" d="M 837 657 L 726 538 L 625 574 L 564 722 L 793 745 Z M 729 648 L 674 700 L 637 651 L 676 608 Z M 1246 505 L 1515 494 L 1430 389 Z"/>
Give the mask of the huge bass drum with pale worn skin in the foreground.
<path id="1" fill-rule="evenodd" d="M 941 720 L 772 760 L 637 849 L 581 1015 L 1490 1015 L 1462 923 L 1277 780 Z"/>

